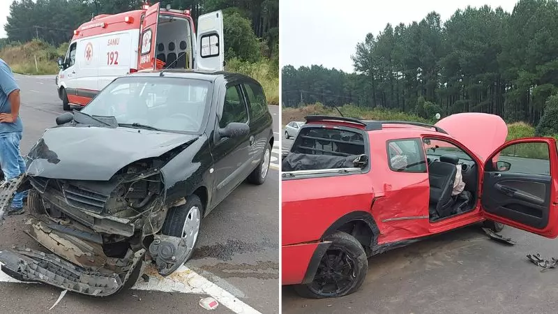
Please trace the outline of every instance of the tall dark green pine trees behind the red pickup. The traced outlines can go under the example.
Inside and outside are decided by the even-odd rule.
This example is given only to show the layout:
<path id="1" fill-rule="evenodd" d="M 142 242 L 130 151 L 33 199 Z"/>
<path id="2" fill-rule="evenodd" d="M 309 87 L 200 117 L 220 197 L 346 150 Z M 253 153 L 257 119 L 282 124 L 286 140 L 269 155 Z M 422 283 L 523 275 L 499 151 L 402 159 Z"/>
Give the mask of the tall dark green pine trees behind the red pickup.
<path id="1" fill-rule="evenodd" d="M 354 73 L 282 68 L 282 103 L 353 103 L 432 118 L 487 112 L 537 124 L 558 91 L 558 2 L 520 0 L 512 13 L 467 7 L 445 22 L 387 24 L 356 45 Z"/>

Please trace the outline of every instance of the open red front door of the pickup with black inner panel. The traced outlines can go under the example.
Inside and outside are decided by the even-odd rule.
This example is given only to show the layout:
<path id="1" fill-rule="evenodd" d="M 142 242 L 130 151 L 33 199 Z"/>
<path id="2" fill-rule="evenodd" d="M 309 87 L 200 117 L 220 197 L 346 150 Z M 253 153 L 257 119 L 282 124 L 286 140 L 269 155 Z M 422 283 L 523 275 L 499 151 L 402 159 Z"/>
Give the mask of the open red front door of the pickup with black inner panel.
<path id="1" fill-rule="evenodd" d="M 485 218 L 543 237 L 558 236 L 558 151 L 552 138 L 506 142 L 485 161 Z"/>

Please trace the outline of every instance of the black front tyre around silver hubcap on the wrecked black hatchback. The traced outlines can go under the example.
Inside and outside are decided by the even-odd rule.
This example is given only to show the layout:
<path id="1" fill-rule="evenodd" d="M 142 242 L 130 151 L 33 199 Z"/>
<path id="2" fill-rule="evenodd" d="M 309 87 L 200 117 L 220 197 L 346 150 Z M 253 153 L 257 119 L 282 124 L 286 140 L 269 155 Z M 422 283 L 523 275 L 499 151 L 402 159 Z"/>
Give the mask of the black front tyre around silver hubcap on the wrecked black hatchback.
<path id="1" fill-rule="evenodd" d="M 202 204 L 202 200 L 199 200 L 199 197 L 197 197 L 197 195 L 190 195 L 186 199 L 186 204 L 171 207 L 169 209 L 169 212 L 167 213 L 167 217 L 165 218 L 165 223 L 163 223 L 163 227 L 161 228 L 161 232 L 165 235 L 169 235 L 172 237 L 182 237 L 182 230 L 184 227 L 184 222 L 188 217 L 188 211 L 190 211 L 190 209 L 195 206 L 197 206 L 197 208 L 199 209 L 199 229 L 197 231 L 197 238 L 194 241 L 192 250 L 190 251 L 190 253 L 188 253 L 188 256 L 186 257 L 186 260 L 184 262 L 190 260 L 194 248 L 199 241 L 199 233 L 202 230 L 202 217 L 204 216 L 205 210 L 204 204 Z"/>

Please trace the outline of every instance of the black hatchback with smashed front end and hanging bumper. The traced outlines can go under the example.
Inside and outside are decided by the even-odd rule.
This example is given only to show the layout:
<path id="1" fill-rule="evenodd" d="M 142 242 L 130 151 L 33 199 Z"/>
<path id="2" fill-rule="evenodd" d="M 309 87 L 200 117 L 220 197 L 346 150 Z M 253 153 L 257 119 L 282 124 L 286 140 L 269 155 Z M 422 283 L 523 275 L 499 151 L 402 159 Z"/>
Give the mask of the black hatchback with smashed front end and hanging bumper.
<path id="1" fill-rule="evenodd" d="M 0 190 L 1 212 L 29 189 L 27 233 L 54 254 L 13 248 L 0 262 L 20 281 L 96 296 L 132 286 L 144 260 L 172 274 L 202 218 L 245 179 L 264 183 L 273 147 L 262 86 L 236 73 L 119 77 L 56 124 Z"/>

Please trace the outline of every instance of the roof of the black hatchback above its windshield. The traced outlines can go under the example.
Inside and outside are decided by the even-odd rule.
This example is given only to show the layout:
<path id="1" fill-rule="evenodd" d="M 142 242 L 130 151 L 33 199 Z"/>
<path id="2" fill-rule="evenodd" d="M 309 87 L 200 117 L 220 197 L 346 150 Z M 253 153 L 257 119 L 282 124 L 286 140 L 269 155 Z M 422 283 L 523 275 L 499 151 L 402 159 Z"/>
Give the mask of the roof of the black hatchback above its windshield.
<path id="1" fill-rule="evenodd" d="M 136 72 L 126 75 L 126 77 L 159 77 L 163 70 L 149 70 Z M 183 77 L 191 78 L 197 80 L 209 80 L 215 81 L 219 77 L 222 77 L 227 82 L 230 81 L 252 81 L 257 82 L 255 79 L 248 75 L 243 75 L 241 73 L 233 73 L 227 71 L 215 71 L 215 70 L 188 70 L 185 68 L 169 68 L 164 71 L 164 77 Z M 259 82 L 257 82 L 259 84 Z"/>

